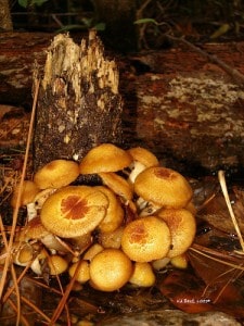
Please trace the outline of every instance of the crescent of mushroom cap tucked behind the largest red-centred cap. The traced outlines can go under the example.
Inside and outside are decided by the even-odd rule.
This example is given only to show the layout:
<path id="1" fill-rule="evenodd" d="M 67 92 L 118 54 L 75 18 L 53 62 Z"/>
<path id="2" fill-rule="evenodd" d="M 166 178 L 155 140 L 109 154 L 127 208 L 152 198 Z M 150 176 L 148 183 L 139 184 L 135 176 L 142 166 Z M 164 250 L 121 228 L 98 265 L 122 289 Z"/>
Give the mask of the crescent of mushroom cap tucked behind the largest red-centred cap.
<path id="1" fill-rule="evenodd" d="M 97 190 L 103 192 L 108 199 L 108 208 L 104 220 L 99 224 L 98 229 L 102 233 L 111 233 L 118 228 L 124 218 L 124 210 L 121 203 L 115 193 L 104 186 L 94 187 Z"/>

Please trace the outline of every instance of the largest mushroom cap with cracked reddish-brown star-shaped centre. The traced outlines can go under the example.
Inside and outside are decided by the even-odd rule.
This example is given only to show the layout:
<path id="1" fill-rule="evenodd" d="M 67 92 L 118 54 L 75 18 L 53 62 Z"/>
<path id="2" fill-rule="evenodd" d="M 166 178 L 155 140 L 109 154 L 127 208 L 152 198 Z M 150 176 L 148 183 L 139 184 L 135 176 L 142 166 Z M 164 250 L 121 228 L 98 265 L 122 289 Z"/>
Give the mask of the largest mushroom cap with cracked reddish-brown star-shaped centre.
<path id="1" fill-rule="evenodd" d="M 46 200 L 40 212 L 41 223 L 60 237 L 79 237 L 102 222 L 107 206 L 106 196 L 94 187 L 68 186 Z"/>

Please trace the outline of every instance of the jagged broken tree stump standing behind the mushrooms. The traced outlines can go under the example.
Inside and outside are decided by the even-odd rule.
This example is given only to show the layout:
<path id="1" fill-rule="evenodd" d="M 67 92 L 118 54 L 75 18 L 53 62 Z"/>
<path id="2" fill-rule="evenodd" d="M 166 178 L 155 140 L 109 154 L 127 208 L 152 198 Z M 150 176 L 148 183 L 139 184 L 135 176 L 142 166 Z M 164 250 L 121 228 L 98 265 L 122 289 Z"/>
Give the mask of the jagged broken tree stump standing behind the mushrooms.
<path id="1" fill-rule="evenodd" d="M 88 45 L 87 45 L 88 43 Z M 115 61 L 104 59 L 94 30 L 80 46 L 54 37 L 40 79 L 34 135 L 34 171 L 55 159 L 80 160 L 102 142 L 121 146 L 123 101 Z"/>

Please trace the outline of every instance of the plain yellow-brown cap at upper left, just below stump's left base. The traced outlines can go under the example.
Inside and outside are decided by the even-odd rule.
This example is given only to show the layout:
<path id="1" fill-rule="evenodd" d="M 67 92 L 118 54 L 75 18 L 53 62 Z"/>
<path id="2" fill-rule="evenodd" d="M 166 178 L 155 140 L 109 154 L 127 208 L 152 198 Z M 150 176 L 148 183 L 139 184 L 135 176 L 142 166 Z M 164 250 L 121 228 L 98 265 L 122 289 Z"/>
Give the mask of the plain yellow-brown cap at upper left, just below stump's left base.
<path id="1" fill-rule="evenodd" d="M 34 175 L 34 181 L 40 189 L 61 188 L 75 181 L 78 175 L 78 163 L 54 160 L 37 171 Z"/>

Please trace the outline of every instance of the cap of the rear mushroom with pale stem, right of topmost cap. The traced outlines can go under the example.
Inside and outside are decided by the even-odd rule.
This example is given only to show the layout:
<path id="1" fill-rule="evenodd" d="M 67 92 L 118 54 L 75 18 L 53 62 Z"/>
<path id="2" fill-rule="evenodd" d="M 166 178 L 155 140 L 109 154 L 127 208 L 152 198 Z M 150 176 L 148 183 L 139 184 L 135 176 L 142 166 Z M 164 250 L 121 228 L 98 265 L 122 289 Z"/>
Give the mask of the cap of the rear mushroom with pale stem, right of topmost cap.
<path id="1" fill-rule="evenodd" d="M 133 147 L 128 149 L 127 152 L 132 156 L 133 161 L 142 163 L 145 167 L 159 165 L 157 158 L 143 147 Z"/>

